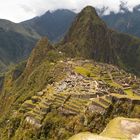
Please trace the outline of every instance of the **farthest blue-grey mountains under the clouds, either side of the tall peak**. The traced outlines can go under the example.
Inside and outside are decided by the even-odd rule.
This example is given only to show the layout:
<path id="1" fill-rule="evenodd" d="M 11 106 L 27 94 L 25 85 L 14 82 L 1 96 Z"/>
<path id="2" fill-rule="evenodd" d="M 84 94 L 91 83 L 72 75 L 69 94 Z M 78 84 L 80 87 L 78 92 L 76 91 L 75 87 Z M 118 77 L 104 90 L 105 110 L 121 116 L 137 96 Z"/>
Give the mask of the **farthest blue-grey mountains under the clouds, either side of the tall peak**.
<path id="1" fill-rule="evenodd" d="M 103 15 L 105 11 L 98 12 L 110 28 L 140 37 L 140 30 L 138 30 L 140 24 L 139 9 L 140 6 L 138 5 L 133 8 L 133 11 L 120 7 L 118 13 L 110 12 L 109 15 Z M 47 11 L 40 17 L 35 17 L 20 24 L 26 28 L 31 28 L 40 36 L 47 36 L 51 41 L 59 41 L 68 31 L 76 15 L 73 11 L 66 9 L 54 12 Z"/>

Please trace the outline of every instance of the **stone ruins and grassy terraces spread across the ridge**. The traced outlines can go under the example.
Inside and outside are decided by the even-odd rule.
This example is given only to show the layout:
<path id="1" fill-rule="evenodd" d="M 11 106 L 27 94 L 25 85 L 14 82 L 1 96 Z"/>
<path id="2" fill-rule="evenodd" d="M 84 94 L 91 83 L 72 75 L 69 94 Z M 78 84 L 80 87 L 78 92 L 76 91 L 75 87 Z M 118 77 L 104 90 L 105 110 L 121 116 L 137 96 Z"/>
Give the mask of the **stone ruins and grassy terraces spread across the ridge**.
<path id="1" fill-rule="evenodd" d="M 64 116 L 91 112 L 103 115 L 116 102 L 140 105 L 137 90 L 140 79 L 136 76 L 92 60 L 59 63 L 67 67 L 65 78 L 48 85 L 21 105 L 19 111 L 24 114 L 26 123 L 40 128 L 52 110 Z"/>

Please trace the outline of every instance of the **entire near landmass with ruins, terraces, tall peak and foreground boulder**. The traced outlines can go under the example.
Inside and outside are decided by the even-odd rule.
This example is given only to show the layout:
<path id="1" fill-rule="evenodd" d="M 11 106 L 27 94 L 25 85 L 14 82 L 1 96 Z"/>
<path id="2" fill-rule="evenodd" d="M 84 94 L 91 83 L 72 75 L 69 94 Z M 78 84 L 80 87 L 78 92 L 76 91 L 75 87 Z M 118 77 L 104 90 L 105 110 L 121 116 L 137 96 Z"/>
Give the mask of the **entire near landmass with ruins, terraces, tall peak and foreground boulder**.
<path id="1" fill-rule="evenodd" d="M 85 7 L 0 75 L 0 140 L 139 140 L 139 64 L 140 39 Z"/>

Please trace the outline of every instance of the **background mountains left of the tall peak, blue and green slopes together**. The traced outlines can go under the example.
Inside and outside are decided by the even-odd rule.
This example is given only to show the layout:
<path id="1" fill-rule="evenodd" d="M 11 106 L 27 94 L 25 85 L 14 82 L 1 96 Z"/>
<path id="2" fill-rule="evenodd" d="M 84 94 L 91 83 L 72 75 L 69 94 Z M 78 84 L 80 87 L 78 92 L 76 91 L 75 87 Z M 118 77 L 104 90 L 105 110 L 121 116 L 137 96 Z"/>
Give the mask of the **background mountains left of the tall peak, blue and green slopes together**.
<path id="1" fill-rule="evenodd" d="M 48 36 L 54 42 L 60 40 L 75 15 L 69 10 L 57 10 L 19 24 L 1 19 L 0 71 L 4 71 L 9 64 L 27 58 L 40 37 Z"/>

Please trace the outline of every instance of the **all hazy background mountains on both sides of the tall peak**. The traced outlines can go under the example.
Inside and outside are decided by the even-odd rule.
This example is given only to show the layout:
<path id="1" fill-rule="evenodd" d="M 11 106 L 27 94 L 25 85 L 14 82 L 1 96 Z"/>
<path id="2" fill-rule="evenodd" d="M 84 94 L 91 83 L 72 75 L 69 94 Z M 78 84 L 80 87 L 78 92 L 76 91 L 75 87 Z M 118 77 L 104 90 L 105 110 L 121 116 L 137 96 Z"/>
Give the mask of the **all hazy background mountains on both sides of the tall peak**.
<path id="1" fill-rule="evenodd" d="M 112 29 L 140 37 L 140 6 L 133 12 L 120 11 L 115 14 L 101 16 Z M 66 9 L 47 11 L 44 15 L 33 19 L 13 23 L 0 20 L 0 71 L 9 64 L 17 63 L 27 58 L 36 41 L 47 36 L 50 41 L 58 42 L 63 38 L 73 23 L 77 14 Z"/>

